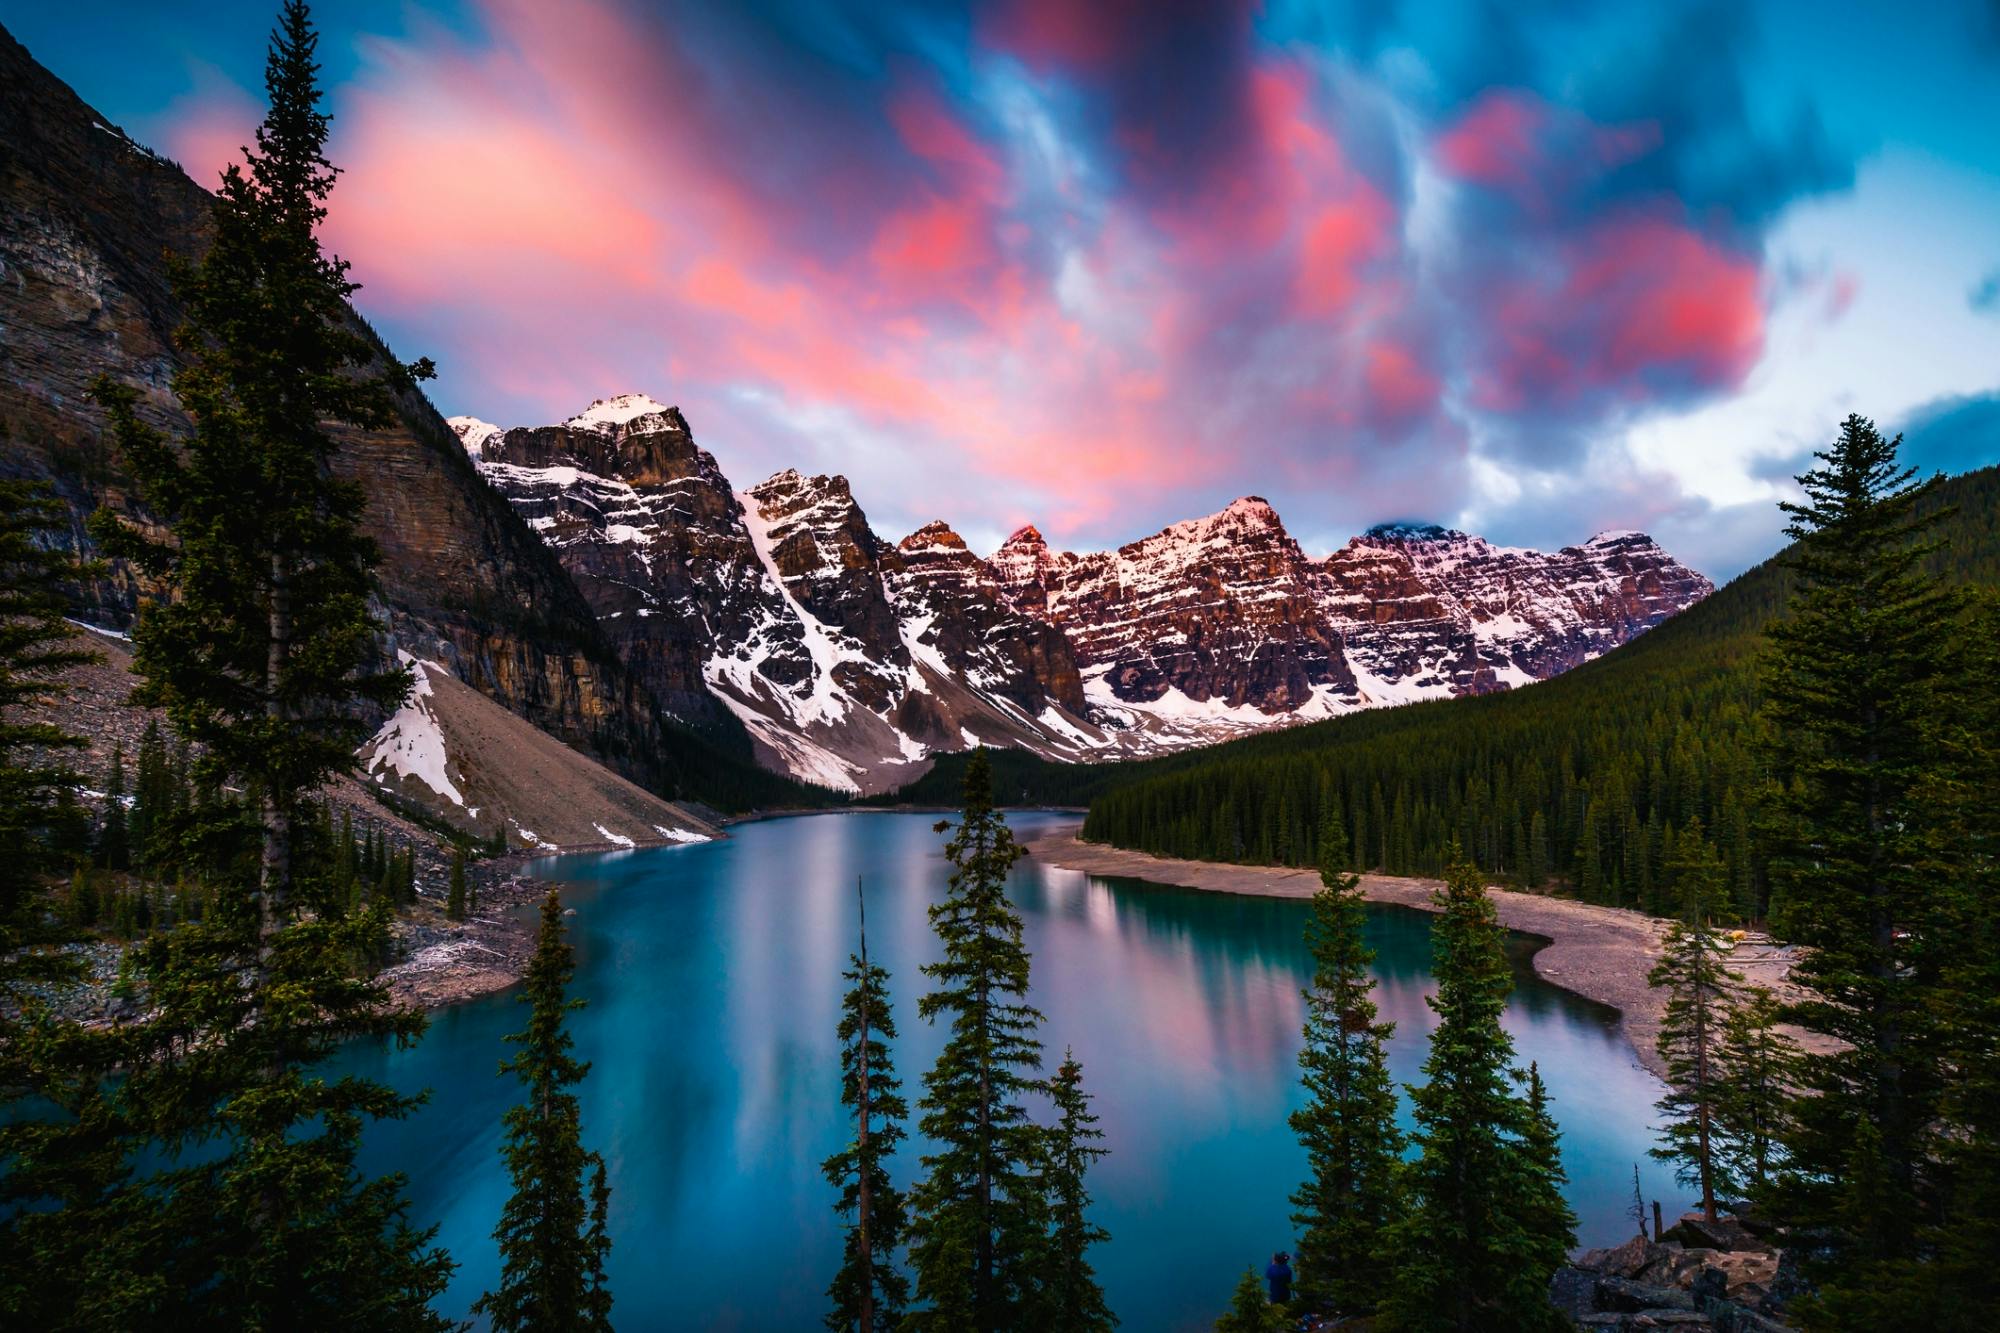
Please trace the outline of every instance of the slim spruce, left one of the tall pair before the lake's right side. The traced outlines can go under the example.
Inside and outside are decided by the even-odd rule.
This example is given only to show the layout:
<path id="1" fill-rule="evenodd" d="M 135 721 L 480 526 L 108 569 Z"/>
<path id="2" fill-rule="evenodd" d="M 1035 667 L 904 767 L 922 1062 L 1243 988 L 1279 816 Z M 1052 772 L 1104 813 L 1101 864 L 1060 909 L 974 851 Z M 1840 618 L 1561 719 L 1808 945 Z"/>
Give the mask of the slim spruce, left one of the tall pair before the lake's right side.
<path id="1" fill-rule="evenodd" d="M 1312 985 L 1302 991 L 1306 1041 L 1298 1053 L 1306 1105 L 1292 1113 L 1310 1175 L 1292 1195 L 1292 1221 L 1302 1227 L 1300 1303 L 1356 1315 L 1388 1291 L 1382 1231 L 1398 1211 L 1404 1139 L 1386 1057 L 1396 1025 L 1376 1021 L 1368 907 L 1346 865 L 1346 831 L 1328 817 L 1320 827 L 1322 887 L 1306 921 Z"/>

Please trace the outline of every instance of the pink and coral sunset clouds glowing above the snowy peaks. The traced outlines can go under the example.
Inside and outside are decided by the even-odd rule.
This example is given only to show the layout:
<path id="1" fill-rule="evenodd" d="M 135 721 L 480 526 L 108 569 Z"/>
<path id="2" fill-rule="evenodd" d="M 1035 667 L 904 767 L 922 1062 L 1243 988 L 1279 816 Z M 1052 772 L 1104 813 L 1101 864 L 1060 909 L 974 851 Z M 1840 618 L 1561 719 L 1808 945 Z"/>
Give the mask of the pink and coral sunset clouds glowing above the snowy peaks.
<path id="1" fill-rule="evenodd" d="M 554 420 L 648 390 L 742 484 L 840 466 L 880 506 L 924 478 L 924 516 L 1018 514 L 1062 540 L 1258 476 L 1400 494 L 1372 446 L 1458 458 L 1448 384 L 1502 412 L 1642 396 L 1740 380 L 1762 344 L 1756 264 L 1654 214 L 1528 228 L 1500 280 L 1420 272 L 1398 170 L 1350 150 L 1366 108 L 1292 56 L 1232 84 L 1230 152 L 1200 190 L 1092 162 L 1050 202 L 1024 168 L 1040 144 L 920 74 L 818 140 L 644 14 L 480 12 L 478 40 L 364 48 L 334 98 L 330 240 L 366 310 L 444 344 L 410 354 L 452 354 L 452 410 Z M 992 22 L 1028 64 L 1098 68 L 1144 12 Z M 186 108 L 186 142 L 220 142 L 204 126 L 224 110 Z M 1436 154 L 1480 188 L 1548 192 L 1568 170 L 1552 142 L 1604 170 L 1648 134 L 1496 94 Z M 846 456 L 800 458 L 814 432 Z"/>

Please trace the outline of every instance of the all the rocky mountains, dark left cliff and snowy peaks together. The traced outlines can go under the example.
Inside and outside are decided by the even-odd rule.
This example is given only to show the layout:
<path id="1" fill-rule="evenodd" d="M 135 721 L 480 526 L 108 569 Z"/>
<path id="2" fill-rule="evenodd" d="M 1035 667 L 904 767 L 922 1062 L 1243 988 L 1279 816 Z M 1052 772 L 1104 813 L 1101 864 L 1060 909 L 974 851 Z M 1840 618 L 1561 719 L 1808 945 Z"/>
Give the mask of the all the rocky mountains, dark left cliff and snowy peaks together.
<path id="1" fill-rule="evenodd" d="M 0 30 L 0 476 L 50 482 L 78 548 L 100 504 L 146 518 L 92 378 L 186 428 L 168 254 L 204 252 L 208 200 Z M 1310 556 L 1256 496 L 1118 550 L 1028 526 L 982 556 L 942 520 L 892 542 L 840 476 L 738 490 L 636 394 L 500 430 L 406 392 L 336 468 L 366 482 L 384 658 L 724 809 L 892 789 L 972 745 L 1146 757 L 1502 691 L 1710 590 L 1636 532 L 1534 552 L 1388 524 Z M 130 626 L 144 590 L 112 564 L 76 616 Z"/>

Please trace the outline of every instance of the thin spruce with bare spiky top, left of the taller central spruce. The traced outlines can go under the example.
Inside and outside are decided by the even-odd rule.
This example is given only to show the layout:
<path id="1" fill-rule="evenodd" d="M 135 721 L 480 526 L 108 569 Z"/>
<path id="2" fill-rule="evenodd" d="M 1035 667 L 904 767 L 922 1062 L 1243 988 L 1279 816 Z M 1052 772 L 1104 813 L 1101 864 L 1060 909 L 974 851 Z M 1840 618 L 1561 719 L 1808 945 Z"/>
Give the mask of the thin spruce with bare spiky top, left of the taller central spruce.
<path id="1" fill-rule="evenodd" d="M 856 897 L 860 885 L 856 885 Z M 890 1181 L 888 1159 L 902 1143 L 902 1081 L 888 1055 L 896 1017 L 888 1003 L 888 971 L 868 961 L 868 919 L 862 909 L 860 953 L 848 955 L 848 995 L 840 1005 L 840 1105 L 854 1119 L 854 1139 L 826 1159 L 826 1181 L 840 1191 L 834 1211 L 852 1219 L 840 1271 L 826 1289 L 834 1333 L 894 1329 L 910 1299 L 910 1279 L 896 1265 L 902 1249 L 904 1201 Z"/>

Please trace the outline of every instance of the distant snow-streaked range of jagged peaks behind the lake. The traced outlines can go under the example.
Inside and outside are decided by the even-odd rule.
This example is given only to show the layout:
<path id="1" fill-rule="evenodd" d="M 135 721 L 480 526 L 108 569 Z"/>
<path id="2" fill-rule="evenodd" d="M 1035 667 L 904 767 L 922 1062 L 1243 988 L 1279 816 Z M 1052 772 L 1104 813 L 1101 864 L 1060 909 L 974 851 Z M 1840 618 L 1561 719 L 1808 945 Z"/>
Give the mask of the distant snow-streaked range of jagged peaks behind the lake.
<path id="1" fill-rule="evenodd" d="M 1712 590 L 1640 532 L 1538 552 L 1384 524 L 1314 558 L 1258 496 L 1118 550 L 1024 526 L 980 556 L 944 520 L 876 534 L 844 476 L 736 490 L 644 394 L 450 424 L 664 709 L 844 791 L 974 745 L 1124 759 L 1502 691 Z"/>

